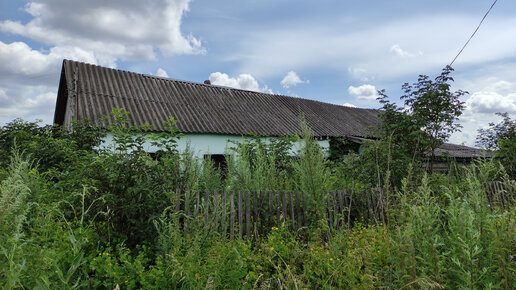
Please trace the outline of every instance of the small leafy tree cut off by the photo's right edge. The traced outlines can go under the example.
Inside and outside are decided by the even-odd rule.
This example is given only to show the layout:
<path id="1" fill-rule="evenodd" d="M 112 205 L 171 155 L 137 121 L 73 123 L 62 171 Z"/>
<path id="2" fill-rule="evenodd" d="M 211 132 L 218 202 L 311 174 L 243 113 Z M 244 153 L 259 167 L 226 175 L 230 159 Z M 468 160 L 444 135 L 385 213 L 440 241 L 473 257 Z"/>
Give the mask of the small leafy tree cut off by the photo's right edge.
<path id="1" fill-rule="evenodd" d="M 505 170 L 514 178 L 516 176 L 516 120 L 512 120 L 509 114 L 496 113 L 502 117 L 500 123 L 489 123 L 489 128 L 479 129 L 477 146 L 495 151 L 495 157 L 505 167 Z"/>

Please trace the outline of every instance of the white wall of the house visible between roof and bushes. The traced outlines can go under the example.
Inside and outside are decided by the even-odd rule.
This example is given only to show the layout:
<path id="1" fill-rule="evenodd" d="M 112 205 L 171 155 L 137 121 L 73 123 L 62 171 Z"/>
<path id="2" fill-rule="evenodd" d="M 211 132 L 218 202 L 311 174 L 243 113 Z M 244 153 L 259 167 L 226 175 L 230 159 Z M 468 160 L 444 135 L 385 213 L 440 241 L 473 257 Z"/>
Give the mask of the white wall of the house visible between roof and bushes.
<path id="1" fill-rule="evenodd" d="M 263 142 L 269 142 L 272 138 L 275 137 L 262 137 Z M 231 147 L 232 142 L 242 142 L 244 140 L 243 136 L 237 135 L 222 135 L 222 134 L 184 134 L 177 142 L 177 147 L 179 152 L 184 152 L 187 147 L 190 148 L 190 151 L 193 152 L 195 157 L 202 158 L 206 154 L 225 154 L 228 147 Z M 328 151 L 329 148 L 329 140 L 319 140 L 317 141 L 319 146 L 324 151 Z M 101 148 L 108 149 L 112 148 L 113 145 L 113 135 L 108 133 L 104 142 L 101 145 Z M 301 146 L 301 141 L 294 142 L 291 154 L 295 155 L 297 150 Z M 145 142 L 144 144 L 145 151 L 147 152 L 156 152 L 158 150 L 157 147 L 153 146 L 150 141 Z"/>

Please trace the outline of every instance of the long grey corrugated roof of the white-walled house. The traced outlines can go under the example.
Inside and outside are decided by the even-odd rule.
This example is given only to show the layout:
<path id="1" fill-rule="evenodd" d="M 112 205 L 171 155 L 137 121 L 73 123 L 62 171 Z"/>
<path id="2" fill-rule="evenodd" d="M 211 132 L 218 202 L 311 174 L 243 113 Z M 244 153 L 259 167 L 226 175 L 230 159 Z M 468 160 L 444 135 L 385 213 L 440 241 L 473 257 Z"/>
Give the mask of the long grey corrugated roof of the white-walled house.
<path id="1" fill-rule="evenodd" d="M 316 137 L 367 136 L 379 123 L 373 109 L 63 61 L 54 123 L 62 125 L 69 110 L 73 119 L 100 125 L 113 108 L 129 111 L 130 125 L 149 123 L 158 131 L 173 116 L 183 133 L 296 135 L 301 114 Z"/>

